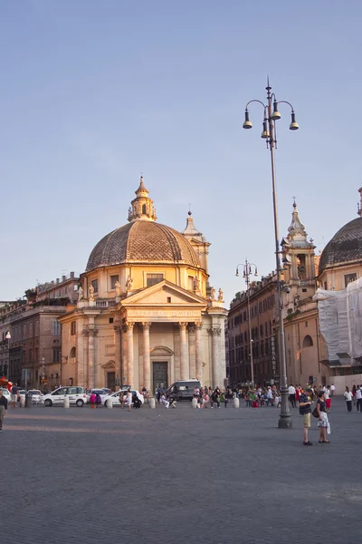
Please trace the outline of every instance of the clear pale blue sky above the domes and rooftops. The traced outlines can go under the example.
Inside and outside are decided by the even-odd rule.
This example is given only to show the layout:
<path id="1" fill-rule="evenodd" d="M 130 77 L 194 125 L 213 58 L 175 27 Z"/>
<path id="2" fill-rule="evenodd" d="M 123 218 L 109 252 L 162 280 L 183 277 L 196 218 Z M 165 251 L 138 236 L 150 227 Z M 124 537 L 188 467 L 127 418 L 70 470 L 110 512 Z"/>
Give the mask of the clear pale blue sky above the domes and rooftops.
<path id="1" fill-rule="evenodd" d="M 158 222 L 211 242 L 226 306 L 247 257 L 275 268 L 267 75 L 281 106 L 281 237 L 293 197 L 317 253 L 357 217 L 359 0 L 2 0 L 0 300 L 70 271 L 125 224 L 143 173 Z"/>

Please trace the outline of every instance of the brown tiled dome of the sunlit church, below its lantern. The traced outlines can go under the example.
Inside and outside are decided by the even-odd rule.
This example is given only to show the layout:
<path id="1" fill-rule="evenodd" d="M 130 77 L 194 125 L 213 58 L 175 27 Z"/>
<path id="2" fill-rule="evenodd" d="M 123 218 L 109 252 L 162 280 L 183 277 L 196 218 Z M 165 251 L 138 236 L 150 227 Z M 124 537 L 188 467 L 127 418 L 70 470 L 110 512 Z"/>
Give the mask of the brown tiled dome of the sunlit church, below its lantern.
<path id="1" fill-rule="evenodd" d="M 127 262 L 175 263 L 200 267 L 190 242 L 174 228 L 154 221 L 136 220 L 116 228 L 90 253 L 86 272 Z"/>

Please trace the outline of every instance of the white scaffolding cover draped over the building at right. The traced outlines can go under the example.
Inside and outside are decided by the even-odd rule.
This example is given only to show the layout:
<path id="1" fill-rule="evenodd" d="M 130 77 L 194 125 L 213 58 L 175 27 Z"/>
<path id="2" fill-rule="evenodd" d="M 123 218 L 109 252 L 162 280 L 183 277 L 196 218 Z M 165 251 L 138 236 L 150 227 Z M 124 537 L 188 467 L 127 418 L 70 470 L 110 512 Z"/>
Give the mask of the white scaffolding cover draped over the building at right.
<path id="1" fill-rule="evenodd" d="M 341 291 L 319 288 L 314 298 L 329 361 L 340 359 L 341 354 L 351 359 L 362 357 L 362 277 Z"/>

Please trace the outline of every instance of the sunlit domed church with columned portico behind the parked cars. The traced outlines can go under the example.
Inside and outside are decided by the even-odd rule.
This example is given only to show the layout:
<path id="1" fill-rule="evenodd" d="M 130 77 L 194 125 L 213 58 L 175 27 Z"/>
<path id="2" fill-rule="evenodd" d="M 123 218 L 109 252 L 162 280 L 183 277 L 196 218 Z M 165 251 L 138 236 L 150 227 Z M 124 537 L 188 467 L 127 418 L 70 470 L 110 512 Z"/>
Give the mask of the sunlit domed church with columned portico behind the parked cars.
<path id="1" fill-rule="evenodd" d="M 225 384 L 224 296 L 210 287 L 210 243 L 194 225 L 157 223 L 143 177 L 129 222 L 90 253 L 62 324 L 62 385 L 154 392 L 176 380 Z"/>

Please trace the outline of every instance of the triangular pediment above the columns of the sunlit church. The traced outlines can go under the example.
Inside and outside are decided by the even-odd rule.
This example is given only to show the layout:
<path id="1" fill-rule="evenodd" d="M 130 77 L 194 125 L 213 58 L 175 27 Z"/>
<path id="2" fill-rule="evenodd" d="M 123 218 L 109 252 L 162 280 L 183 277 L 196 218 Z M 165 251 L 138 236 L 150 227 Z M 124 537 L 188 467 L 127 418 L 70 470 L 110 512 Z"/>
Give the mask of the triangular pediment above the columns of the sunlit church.
<path id="1" fill-rule="evenodd" d="M 121 306 L 197 306 L 206 307 L 207 301 L 164 279 L 154 286 L 145 287 L 124 298 Z"/>

